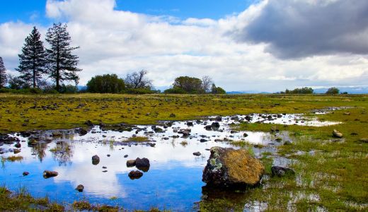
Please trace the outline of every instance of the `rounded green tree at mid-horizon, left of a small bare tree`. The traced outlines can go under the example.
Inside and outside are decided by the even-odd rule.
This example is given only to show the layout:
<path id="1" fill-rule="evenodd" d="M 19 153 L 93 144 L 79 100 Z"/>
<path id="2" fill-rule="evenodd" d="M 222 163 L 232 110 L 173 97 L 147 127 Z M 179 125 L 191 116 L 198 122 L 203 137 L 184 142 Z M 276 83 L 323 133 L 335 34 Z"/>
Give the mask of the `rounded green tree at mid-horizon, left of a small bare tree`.
<path id="1" fill-rule="evenodd" d="M 186 93 L 203 93 L 202 80 L 195 77 L 179 76 L 175 79 L 173 88 L 181 88 Z"/>

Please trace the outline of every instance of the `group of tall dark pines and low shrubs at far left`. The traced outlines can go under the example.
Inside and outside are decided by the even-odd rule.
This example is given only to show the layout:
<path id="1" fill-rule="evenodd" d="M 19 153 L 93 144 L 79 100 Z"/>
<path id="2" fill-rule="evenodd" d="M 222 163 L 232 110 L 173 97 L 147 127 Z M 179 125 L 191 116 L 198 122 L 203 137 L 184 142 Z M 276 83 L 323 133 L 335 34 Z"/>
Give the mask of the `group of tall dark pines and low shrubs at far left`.
<path id="1" fill-rule="evenodd" d="M 46 39 L 49 45 L 45 48 L 41 40 L 41 34 L 33 27 L 30 35 L 25 37 L 25 43 L 21 49 L 19 66 L 16 71 L 19 76 L 6 75 L 4 61 L 0 57 L 0 88 L 8 83 L 9 88 L 44 88 L 62 92 L 68 87 L 64 81 L 79 83 L 78 72 L 79 57 L 72 52 L 79 47 L 71 47 L 71 37 L 67 31 L 67 24 L 54 23 L 47 30 Z M 54 85 L 50 85 L 44 78 L 50 78 Z M 76 89 L 76 88 L 74 88 Z"/>

